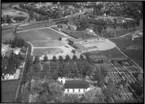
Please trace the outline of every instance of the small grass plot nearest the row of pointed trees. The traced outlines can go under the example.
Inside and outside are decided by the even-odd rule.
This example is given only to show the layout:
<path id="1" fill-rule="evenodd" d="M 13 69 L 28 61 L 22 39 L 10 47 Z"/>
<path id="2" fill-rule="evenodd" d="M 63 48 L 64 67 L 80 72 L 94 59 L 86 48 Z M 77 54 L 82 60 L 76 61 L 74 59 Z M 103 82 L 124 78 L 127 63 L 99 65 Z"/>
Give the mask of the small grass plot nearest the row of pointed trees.
<path id="1" fill-rule="evenodd" d="M 63 52 L 62 49 L 60 48 L 43 48 L 43 49 L 34 49 L 33 51 L 33 55 L 34 56 L 39 56 L 39 55 L 45 55 L 46 53 L 47 54 L 57 54 L 57 53 L 61 53 Z"/>

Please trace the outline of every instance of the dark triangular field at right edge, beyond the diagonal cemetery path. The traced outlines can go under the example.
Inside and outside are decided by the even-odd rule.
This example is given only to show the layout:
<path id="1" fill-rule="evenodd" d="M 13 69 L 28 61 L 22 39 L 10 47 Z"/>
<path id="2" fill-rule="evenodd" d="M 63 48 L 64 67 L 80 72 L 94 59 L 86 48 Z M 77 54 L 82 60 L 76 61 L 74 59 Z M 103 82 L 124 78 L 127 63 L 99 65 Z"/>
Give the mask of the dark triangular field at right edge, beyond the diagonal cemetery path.
<path id="1" fill-rule="evenodd" d="M 132 45 L 138 45 L 143 47 L 143 38 L 137 38 L 132 41 L 129 38 L 112 39 L 114 43 L 131 59 L 137 62 L 141 67 L 143 67 L 143 48 L 138 49 L 128 49 L 127 47 Z"/>

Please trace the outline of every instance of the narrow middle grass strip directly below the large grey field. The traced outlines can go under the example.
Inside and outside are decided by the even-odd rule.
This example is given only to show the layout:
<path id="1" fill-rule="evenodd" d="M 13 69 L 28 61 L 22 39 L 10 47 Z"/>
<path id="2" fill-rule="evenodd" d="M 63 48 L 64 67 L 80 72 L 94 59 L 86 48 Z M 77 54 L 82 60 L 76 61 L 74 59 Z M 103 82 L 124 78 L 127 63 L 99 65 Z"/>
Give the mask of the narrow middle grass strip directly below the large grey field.
<path id="1" fill-rule="evenodd" d="M 64 46 L 62 42 L 58 40 L 40 40 L 40 41 L 32 41 L 31 42 L 34 47 L 55 47 L 55 46 Z"/>

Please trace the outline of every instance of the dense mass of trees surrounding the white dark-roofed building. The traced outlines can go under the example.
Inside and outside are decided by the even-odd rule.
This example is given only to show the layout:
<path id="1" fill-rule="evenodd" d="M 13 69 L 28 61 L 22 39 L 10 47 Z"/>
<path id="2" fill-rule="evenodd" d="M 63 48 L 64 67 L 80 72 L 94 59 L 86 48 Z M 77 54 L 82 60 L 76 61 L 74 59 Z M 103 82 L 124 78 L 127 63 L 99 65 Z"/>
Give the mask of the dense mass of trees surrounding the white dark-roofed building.
<path id="1" fill-rule="evenodd" d="M 99 69 L 99 73 L 99 71 L 96 70 L 96 67 L 90 65 L 83 56 L 81 56 L 80 60 L 78 60 L 76 56 L 74 56 L 73 59 L 66 56 L 65 60 L 61 56 L 59 59 L 56 59 L 54 56 L 51 61 L 48 60 L 46 55 L 44 56 L 43 61 L 40 61 L 39 57 L 36 56 L 34 61 L 32 61 L 32 59 L 26 61 L 26 69 L 27 80 L 25 80 L 25 82 L 30 82 L 32 78 L 35 80 L 41 79 L 41 81 L 43 80 L 44 82 L 38 84 L 38 86 L 32 90 L 30 89 L 30 85 L 28 87 L 29 91 L 39 95 L 37 100 L 40 102 L 104 102 L 104 95 L 97 95 L 94 91 L 88 92 L 81 99 L 77 96 L 74 97 L 73 95 L 62 96 L 63 87 L 59 82 L 55 81 L 58 77 L 62 76 L 85 78 L 86 76 L 91 76 L 92 73 L 95 73 L 93 76 L 95 80 L 102 81 L 102 76 L 106 76 L 107 71 L 102 67 Z M 92 99 L 89 98 L 90 96 Z"/>

